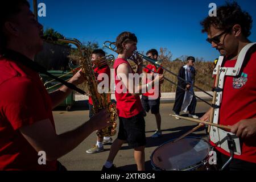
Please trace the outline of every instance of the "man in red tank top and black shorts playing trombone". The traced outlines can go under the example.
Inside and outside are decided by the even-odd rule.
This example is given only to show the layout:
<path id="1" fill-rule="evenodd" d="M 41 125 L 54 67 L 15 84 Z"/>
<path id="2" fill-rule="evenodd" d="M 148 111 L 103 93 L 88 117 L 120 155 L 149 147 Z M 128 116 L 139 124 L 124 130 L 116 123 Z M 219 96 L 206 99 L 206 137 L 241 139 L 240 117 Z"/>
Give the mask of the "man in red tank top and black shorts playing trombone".
<path id="1" fill-rule="evenodd" d="M 119 133 L 110 148 L 109 157 L 103 171 L 114 171 L 113 160 L 122 144 L 127 141 L 130 147 L 134 148 L 134 159 L 138 171 L 144 171 L 146 145 L 145 121 L 142 113 L 141 91 L 147 84 L 135 84 L 133 77 L 136 75 L 127 59 L 133 56 L 137 50 L 137 37 L 130 32 L 122 32 L 116 40 L 118 59 L 115 60 L 115 99 L 117 100 L 117 113 L 119 117 Z M 137 73 L 142 73 L 142 60 L 134 60 L 138 64 Z M 163 75 L 158 75 L 154 80 L 148 82 L 151 87 L 163 81 Z M 151 88 L 150 87 L 150 88 Z"/>

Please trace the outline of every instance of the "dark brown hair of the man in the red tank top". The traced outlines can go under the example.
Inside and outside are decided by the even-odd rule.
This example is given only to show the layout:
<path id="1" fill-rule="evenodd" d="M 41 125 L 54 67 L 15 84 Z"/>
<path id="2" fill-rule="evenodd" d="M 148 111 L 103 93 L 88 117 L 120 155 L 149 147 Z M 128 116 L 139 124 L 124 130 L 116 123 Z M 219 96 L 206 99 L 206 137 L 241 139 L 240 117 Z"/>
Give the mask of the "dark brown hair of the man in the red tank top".
<path id="1" fill-rule="evenodd" d="M 138 39 L 135 34 L 131 32 L 122 32 L 118 35 L 115 45 L 117 46 L 117 53 L 123 53 L 122 43 L 129 43 L 131 41 L 138 42 Z"/>

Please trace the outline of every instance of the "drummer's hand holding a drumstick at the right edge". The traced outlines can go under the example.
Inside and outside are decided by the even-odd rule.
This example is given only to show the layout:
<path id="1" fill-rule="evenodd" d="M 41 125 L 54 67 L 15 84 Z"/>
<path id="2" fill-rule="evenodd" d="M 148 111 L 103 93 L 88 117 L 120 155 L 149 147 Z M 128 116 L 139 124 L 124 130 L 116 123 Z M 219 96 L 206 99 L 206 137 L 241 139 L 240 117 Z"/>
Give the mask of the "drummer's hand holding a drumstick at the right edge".
<path id="1" fill-rule="evenodd" d="M 231 127 L 237 137 L 250 138 L 256 135 L 256 118 L 243 119 Z"/>

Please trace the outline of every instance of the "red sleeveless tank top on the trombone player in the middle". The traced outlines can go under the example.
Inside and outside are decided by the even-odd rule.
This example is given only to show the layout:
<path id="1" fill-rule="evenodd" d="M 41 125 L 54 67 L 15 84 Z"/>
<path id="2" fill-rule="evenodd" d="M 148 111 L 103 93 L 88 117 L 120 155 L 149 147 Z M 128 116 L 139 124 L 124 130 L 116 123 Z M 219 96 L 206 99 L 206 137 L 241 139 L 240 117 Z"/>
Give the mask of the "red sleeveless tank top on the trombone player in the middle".
<path id="1" fill-rule="evenodd" d="M 130 118 L 134 115 L 141 113 L 142 105 L 141 105 L 141 98 L 139 96 L 131 95 L 128 90 L 127 93 L 118 93 L 123 89 L 122 84 L 118 84 L 120 82 L 119 78 L 117 78 L 117 68 L 120 64 L 125 63 L 130 64 L 122 58 L 118 58 L 115 60 L 114 69 L 115 69 L 115 99 L 117 100 L 117 113 L 119 117 L 122 118 Z M 133 70 L 133 69 L 131 69 Z M 133 71 L 134 73 L 134 71 Z M 121 86 L 119 86 L 121 85 Z M 119 88 L 118 88 L 119 87 Z"/>

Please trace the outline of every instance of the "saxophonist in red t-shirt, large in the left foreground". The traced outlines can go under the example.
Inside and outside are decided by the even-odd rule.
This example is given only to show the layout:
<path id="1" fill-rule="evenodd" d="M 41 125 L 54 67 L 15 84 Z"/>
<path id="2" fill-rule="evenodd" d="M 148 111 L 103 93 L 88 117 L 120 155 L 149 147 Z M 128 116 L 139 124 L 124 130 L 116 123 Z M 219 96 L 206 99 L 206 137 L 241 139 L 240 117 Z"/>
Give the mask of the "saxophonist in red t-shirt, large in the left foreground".
<path id="1" fill-rule="evenodd" d="M 26 0 L 0 2 L 0 170 L 61 170 L 57 159 L 110 124 L 107 110 L 77 129 L 57 135 L 52 109 L 72 90 L 48 94 L 33 63 L 43 48 L 43 27 Z M 35 65 L 35 64 L 32 64 Z M 84 81 L 80 72 L 69 80 Z"/>

